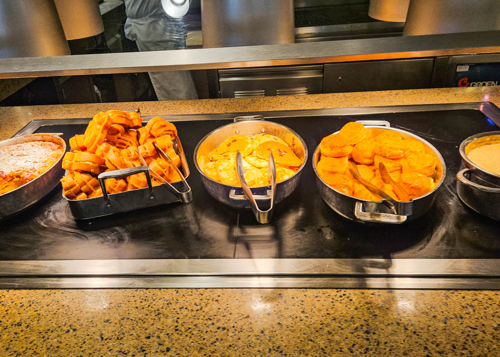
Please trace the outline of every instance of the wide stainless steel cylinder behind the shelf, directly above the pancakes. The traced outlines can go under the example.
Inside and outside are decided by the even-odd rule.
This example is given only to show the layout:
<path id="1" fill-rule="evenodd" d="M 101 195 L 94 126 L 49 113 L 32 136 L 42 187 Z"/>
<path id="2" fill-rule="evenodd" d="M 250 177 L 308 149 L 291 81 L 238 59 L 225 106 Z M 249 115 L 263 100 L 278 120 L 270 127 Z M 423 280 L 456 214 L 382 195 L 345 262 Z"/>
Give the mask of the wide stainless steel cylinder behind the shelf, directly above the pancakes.
<path id="1" fill-rule="evenodd" d="M 293 43 L 293 0 L 201 0 L 203 47 Z"/>

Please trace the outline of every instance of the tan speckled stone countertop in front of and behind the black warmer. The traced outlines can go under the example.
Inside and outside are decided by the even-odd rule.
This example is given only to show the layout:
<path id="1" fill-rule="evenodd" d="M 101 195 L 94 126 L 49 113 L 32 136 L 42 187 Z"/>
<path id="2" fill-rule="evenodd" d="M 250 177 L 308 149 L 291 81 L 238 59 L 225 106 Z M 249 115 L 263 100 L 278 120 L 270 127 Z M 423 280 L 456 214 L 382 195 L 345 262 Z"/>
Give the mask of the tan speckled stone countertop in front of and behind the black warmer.
<path id="1" fill-rule="evenodd" d="M 0 107 L 31 119 L 492 101 L 500 87 Z M 500 287 L 500 286 L 499 286 Z M 0 290 L 0 355 L 500 355 L 500 292 L 361 289 Z"/>

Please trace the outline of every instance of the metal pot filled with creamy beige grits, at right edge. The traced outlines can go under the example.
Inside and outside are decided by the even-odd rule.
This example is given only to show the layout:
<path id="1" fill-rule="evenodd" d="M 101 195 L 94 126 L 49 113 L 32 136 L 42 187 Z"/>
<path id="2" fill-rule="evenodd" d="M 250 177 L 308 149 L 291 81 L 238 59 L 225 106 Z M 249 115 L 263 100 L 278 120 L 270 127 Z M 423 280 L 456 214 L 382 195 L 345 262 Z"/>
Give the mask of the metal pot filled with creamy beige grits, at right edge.
<path id="1" fill-rule="evenodd" d="M 500 131 L 467 137 L 459 147 L 458 197 L 471 209 L 500 220 Z"/>

